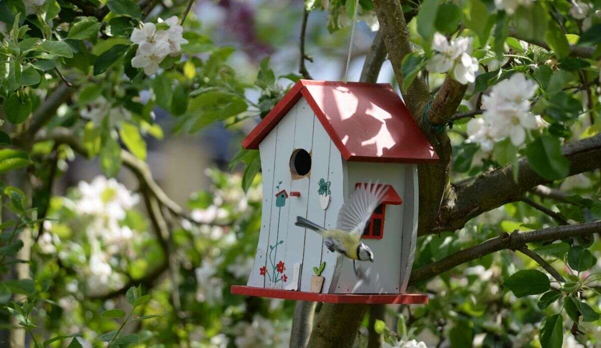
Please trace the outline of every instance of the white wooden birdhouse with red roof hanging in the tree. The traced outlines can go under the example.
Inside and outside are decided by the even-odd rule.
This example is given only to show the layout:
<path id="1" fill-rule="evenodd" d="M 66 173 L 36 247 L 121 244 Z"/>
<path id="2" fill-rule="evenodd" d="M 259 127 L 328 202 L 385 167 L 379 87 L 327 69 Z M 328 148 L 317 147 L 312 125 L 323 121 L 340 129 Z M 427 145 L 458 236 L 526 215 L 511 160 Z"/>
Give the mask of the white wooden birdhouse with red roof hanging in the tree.
<path id="1" fill-rule="evenodd" d="M 261 231 L 246 286 L 234 294 L 334 303 L 426 303 L 406 294 L 415 255 L 419 163 L 438 161 L 389 84 L 297 82 L 243 140 L 259 149 Z M 358 185 L 386 185 L 363 232 L 374 262 L 332 252 L 297 216 L 334 229 Z"/>

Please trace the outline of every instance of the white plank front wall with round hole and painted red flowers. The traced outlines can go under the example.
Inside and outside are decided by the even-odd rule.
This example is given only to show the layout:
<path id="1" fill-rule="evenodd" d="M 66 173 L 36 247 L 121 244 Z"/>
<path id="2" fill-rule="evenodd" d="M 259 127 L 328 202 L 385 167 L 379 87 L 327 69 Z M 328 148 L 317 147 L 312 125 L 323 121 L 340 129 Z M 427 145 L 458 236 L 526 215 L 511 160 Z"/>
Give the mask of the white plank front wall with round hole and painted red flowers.
<path id="1" fill-rule="evenodd" d="M 311 156 L 310 172 L 295 172 L 295 151 Z M 343 202 L 343 160 L 328 133 L 307 101 L 301 98 L 259 145 L 263 170 L 263 211 L 254 266 L 248 286 L 275 289 L 295 288 L 294 265 L 301 264 L 299 288 L 310 291 L 313 266 L 326 267 L 323 286 L 327 292 L 338 255 L 322 246 L 322 237 L 294 225 L 297 216 L 334 228 Z M 319 180 L 331 182 L 331 202 L 320 205 Z M 285 190 L 285 204 L 276 205 L 276 193 Z M 298 192 L 299 196 L 291 193 Z M 281 198 L 280 198 L 281 199 Z M 281 204 L 278 204 L 281 205 Z"/>

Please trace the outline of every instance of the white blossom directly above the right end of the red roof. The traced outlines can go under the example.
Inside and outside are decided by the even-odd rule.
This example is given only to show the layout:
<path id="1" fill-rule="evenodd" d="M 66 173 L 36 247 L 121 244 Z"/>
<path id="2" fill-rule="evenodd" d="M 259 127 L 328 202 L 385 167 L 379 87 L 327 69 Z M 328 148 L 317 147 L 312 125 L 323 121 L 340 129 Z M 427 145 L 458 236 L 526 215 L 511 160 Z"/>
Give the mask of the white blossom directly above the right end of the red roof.
<path id="1" fill-rule="evenodd" d="M 457 37 L 449 43 L 447 38 L 435 33 L 432 40 L 435 54 L 426 64 L 430 72 L 450 72 L 451 76 L 461 84 L 474 82 L 478 71 L 478 60 L 471 57 L 471 37 Z"/>

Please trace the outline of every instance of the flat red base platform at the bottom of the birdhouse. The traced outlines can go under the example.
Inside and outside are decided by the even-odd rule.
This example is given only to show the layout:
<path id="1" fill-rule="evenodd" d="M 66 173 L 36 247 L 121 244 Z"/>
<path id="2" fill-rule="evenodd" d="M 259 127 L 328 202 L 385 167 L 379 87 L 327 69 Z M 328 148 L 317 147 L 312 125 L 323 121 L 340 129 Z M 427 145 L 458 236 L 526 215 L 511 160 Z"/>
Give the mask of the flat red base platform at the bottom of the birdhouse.
<path id="1" fill-rule="evenodd" d="M 428 303 L 428 295 L 421 294 L 321 294 L 306 293 L 304 291 L 254 288 L 243 285 L 232 285 L 230 291 L 235 295 L 328 303 L 403 303 L 404 305 Z"/>

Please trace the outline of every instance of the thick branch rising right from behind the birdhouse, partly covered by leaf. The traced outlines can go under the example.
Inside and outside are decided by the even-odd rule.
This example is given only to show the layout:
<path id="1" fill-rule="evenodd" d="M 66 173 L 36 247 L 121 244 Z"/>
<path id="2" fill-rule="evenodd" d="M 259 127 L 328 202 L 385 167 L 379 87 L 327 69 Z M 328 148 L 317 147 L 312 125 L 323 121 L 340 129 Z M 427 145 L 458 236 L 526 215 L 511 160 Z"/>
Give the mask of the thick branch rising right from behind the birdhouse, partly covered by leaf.
<path id="1" fill-rule="evenodd" d="M 570 161 L 570 176 L 598 169 L 601 167 L 601 134 L 565 144 L 562 152 Z M 420 219 L 419 234 L 455 231 L 473 217 L 521 200 L 528 190 L 549 182 L 538 176 L 526 158 L 520 158 L 518 166 L 517 182 L 513 180 L 513 166 L 510 165 L 454 184 L 451 199 L 442 206 L 441 222 Z"/>

